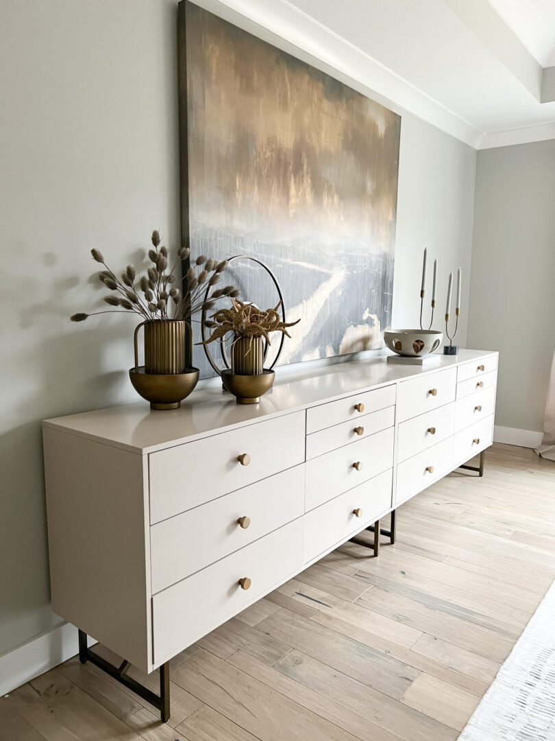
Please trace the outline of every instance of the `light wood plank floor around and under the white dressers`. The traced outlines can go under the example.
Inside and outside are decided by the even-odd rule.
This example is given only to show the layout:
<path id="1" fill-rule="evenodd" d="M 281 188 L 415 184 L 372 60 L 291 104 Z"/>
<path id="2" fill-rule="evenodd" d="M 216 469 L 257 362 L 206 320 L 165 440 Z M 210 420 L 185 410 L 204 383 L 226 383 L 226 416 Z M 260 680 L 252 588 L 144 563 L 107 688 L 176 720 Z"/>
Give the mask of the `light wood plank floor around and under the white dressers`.
<path id="1" fill-rule="evenodd" d="M 71 659 L 0 700 L 0 740 L 456 739 L 555 578 L 555 464 L 494 445 L 397 522 L 176 657 L 169 725 Z"/>

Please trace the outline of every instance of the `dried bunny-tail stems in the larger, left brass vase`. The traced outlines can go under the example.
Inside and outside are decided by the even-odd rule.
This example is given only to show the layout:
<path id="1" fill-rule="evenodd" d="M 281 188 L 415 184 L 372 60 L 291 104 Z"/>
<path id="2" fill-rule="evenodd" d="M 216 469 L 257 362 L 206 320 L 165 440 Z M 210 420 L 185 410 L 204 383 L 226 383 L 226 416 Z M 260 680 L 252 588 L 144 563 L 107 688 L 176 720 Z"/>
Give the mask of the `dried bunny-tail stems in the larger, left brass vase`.
<path id="1" fill-rule="evenodd" d="M 160 246 L 161 239 L 157 230 L 152 232 L 151 241 L 153 249 L 149 249 L 148 256 L 152 265 L 147 269 L 147 273 L 140 277 L 136 276 L 132 265 L 127 265 L 121 277 L 118 278 L 104 262 L 101 251 L 90 250 L 92 259 L 100 262 L 105 268 L 99 273 L 98 278 L 106 288 L 116 294 L 105 296 L 104 301 L 109 306 L 118 308 L 95 311 L 90 314 L 76 313 L 70 316 L 72 322 L 84 322 L 89 316 L 118 313 L 121 310 L 132 311 L 147 322 L 189 319 L 202 309 L 213 308 L 218 299 L 229 296 L 235 300 L 239 295 L 238 288 L 232 285 L 213 288 L 221 279 L 221 273 L 226 268 L 227 262 L 226 260 L 217 262 L 215 259 L 207 259 L 204 255 L 199 256 L 187 270 L 184 292 L 181 293 L 172 284 L 176 282 L 175 269 L 178 262 L 189 257 L 189 248 L 181 247 L 178 250 L 177 259 L 172 269 L 168 271 L 168 250 L 164 245 Z M 170 311 L 172 304 L 173 310 Z"/>

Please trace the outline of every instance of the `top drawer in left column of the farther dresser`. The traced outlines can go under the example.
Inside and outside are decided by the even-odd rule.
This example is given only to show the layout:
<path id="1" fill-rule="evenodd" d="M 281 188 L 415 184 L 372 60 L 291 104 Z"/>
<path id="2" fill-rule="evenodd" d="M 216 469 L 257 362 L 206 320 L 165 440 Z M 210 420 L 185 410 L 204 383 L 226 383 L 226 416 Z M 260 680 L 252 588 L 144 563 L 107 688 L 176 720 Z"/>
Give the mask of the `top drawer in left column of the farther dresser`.
<path id="1" fill-rule="evenodd" d="M 397 391 L 398 422 L 454 402 L 456 386 L 457 368 L 403 381 Z"/>

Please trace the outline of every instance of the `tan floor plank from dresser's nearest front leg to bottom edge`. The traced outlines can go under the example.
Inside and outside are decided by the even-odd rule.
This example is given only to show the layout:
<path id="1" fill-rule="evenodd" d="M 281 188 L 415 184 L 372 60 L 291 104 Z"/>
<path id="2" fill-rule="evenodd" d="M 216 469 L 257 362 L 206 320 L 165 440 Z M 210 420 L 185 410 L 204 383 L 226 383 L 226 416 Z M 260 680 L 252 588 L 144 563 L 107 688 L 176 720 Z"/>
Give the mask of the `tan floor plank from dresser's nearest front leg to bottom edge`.
<path id="1" fill-rule="evenodd" d="M 355 741 L 337 725 L 207 651 L 178 666 L 174 681 L 261 741 L 275 741 L 277 734 L 292 741 L 311 734 L 321 741 Z"/>

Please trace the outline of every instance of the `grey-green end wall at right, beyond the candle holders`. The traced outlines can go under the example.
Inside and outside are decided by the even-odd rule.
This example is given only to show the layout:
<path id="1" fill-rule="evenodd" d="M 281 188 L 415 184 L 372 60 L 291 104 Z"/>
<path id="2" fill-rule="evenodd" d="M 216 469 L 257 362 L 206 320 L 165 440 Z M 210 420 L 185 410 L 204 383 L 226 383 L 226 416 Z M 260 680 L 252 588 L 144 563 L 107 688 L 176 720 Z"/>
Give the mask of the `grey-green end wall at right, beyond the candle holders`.
<path id="1" fill-rule="evenodd" d="M 541 437 L 555 349 L 555 140 L 478 153 L 468 342 L 499 350 L 497 439 Z M 530 442 L 526 442 L 529 440 Z"/>

